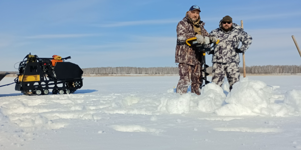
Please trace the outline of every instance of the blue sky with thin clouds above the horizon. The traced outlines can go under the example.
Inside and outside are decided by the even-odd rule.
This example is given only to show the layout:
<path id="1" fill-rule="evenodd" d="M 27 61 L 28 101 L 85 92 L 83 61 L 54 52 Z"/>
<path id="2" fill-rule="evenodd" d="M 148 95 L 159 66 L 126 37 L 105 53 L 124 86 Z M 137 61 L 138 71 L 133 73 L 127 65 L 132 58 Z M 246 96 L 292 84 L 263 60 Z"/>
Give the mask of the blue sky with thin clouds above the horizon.
<path id="1" fill-rule="evenodd" d="M 1 0 L 0 70 L 29 52 L 82 68 L 177 66 L 176 26 L 194 4 L 209 32 L 225 15 L 244 21 L 246 65 L 301 64 L 291 38 L 301 45 L 301 0 Z"/>

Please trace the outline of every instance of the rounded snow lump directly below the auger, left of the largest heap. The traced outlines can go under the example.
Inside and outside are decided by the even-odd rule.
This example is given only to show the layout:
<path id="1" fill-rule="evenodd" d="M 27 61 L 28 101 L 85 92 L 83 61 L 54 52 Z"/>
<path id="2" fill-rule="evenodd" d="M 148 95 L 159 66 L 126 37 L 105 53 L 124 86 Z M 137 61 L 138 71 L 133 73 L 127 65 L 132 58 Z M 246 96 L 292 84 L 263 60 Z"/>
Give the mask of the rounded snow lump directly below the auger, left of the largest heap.
<path id="1" fill-rule="evenodd" d="M 206 84 L 202 88 L 201 95 L 198 98 L 200 99 L 198 101 L 198 109 L 205 112 L 213 112 L 222 106 L 225 98 L 226 95 L 219 85 L 215 83 Z"/>

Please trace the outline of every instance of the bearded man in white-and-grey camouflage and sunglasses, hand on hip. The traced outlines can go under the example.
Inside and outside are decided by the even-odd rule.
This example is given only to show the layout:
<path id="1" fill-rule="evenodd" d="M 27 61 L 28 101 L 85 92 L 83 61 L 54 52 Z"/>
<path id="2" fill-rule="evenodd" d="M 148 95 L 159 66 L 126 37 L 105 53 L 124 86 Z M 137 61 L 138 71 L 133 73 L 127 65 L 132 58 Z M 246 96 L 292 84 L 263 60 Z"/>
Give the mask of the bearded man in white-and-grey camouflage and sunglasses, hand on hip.
<path id="1" fill-rule="evenodd" d="M 216 36 L 220 42 L 211 50 L 212 56 L 212 82 L 222 86 L 225 73 L 230 84 L 239 81 L 239 53 L 245 52 L 252 43 L 252 37 L 236 23 L 232 23 L 229 15 L 223 17 L 219 23 L 219 28 L 210 32 L 210 35 Z M 239 42 L 242 42 L 240 48 Z"/>

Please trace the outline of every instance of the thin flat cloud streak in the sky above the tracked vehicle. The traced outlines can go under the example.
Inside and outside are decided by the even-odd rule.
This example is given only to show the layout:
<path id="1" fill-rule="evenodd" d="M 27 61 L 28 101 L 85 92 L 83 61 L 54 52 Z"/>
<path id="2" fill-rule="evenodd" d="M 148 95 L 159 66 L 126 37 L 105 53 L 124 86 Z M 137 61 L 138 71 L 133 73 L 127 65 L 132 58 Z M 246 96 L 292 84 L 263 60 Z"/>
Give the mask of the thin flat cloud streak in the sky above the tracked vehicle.
<path id="1" fill-rule="evenodd" d="M 99 34 L 42 34 L 27 36 L 26 38 L 76 38 L 76 37 L 87 37 L 97 36 Z"/>

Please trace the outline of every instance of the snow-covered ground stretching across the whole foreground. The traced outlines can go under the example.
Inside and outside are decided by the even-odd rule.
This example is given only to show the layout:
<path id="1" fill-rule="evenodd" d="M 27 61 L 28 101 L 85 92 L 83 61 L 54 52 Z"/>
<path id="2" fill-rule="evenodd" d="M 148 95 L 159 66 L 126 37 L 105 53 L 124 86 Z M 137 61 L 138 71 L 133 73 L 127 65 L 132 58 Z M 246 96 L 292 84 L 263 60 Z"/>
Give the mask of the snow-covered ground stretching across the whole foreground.
<path id="1" fill-rule="evenodd" d="M 301 149 L 301 76 L 249 76 L 202 95 L 173 93 L 178 80 L 84 77 L 68 95 L 0 87 L 0 149 Z"/>

